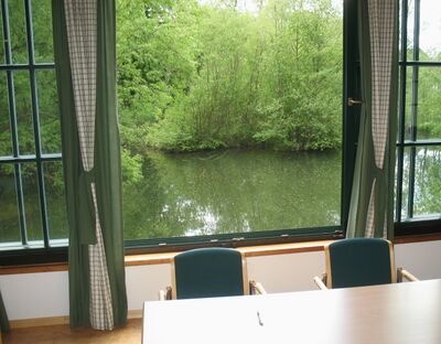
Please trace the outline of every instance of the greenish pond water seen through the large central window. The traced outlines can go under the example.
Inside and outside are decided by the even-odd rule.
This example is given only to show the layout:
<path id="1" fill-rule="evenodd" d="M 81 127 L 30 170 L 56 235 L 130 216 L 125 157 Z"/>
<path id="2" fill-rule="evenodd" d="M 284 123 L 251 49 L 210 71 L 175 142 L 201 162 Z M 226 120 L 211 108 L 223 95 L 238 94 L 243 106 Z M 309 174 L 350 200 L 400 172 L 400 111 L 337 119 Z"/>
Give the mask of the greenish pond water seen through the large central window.
<path id="1" fill-rule="evenodd" d="M 125 186 L 125 238 L 340 224 L 340 152 L 149 152 Z"/>

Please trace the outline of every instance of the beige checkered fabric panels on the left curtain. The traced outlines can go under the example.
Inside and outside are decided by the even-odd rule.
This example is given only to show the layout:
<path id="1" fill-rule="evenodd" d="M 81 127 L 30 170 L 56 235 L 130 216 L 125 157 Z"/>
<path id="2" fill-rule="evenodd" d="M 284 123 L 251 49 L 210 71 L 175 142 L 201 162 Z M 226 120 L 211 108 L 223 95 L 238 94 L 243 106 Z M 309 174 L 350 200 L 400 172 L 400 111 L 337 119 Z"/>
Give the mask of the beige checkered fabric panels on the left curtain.
<path id="1" fill-rule="evenodd" d="M 95 153 L 97 0 L 65 0 L 64 7 L 80 155 L 84 171 L 90 173 Z M 95 213 L 96 233 L 96 244 L 88 246 L 90 325 L 112 330 L 112 301 L 95 183 L 89 182 L 87 187 L 93 196 L 90 211 Z"/>

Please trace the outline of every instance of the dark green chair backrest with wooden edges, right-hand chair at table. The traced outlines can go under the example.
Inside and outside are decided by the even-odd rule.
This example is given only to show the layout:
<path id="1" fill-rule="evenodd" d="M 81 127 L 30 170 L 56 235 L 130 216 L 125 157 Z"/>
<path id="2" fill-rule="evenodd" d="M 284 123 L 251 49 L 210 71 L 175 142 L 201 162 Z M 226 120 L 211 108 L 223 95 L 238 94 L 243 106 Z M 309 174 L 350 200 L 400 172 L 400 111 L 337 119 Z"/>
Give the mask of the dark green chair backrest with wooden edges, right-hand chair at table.
<path id="1" fill-rule="evenodd" d="M 327 288 L 386 284 L 397 281 L 394 246 L 377 238 L 354 238 L 325 247 Z"/>

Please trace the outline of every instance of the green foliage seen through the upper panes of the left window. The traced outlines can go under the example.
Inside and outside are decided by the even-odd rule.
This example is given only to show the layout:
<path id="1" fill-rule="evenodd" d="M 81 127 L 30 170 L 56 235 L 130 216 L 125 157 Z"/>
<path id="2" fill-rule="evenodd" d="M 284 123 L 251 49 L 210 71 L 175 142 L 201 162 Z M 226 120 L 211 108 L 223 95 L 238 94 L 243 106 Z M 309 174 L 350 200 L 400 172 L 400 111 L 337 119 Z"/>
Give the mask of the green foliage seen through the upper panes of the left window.
<path id="1" fill-rule="evenodd" d="M 28 63 L 26 30 L 24 20 L 24 2 L 8 1 L 10 22 L 10 43 L 12 63 Z M 34 58 L 36 63 L 53 62 L 53 40 L 51 0 L 41 0 L 32 7 L 32 23 L 34 37 Z M 4 61 L 3 32 L 0 34 L 0 63 Z M 13 71 L 14 108 L 10 103 L 12 95 L 7 87 L 7 73 L 0 73 L 0 155 L 12 155 L 12 130 L 9 118 L 10 110 L 17 115 L 18 141 L 20 154 L 35 154 L 34 126 L 32 118 L 30 73 Z M 43 153 L 61 151 L 60 114 L 57 106 L 57 90 L 54 71 L 36 71 L 36 100 L 40 120 L 40 136 Z M 8 171 L 10 166 L 0 165 L 0 171 Z M 23 170 L 24 171 L 24 170 Z M 23 173 L 26 173 L 25 171 Z"/>

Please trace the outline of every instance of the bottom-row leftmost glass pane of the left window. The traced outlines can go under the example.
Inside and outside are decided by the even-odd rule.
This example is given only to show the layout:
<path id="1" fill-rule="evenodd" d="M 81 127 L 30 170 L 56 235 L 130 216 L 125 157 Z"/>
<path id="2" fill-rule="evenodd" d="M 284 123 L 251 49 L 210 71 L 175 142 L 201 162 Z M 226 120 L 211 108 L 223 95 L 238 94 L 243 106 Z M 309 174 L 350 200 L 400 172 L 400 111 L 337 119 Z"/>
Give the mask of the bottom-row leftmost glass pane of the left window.
<path id="1" fill-rule="evenodd" d="M 14 169 L 12 164 L 0 164 L 0 246 L 20 240 Z"/>

